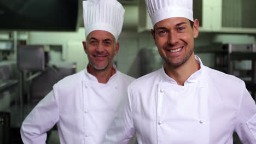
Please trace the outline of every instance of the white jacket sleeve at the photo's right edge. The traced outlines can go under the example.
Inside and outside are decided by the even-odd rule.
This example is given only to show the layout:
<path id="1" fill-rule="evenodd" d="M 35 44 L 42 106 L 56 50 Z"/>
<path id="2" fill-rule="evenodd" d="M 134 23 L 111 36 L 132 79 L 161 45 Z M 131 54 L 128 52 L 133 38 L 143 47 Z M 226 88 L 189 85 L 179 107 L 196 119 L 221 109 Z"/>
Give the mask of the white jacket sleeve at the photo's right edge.
<path id="1" fill-rule="evenodd" d="M 242 143 L 256 143 L 256 105 L 243 82 L 235 131 Z"/>

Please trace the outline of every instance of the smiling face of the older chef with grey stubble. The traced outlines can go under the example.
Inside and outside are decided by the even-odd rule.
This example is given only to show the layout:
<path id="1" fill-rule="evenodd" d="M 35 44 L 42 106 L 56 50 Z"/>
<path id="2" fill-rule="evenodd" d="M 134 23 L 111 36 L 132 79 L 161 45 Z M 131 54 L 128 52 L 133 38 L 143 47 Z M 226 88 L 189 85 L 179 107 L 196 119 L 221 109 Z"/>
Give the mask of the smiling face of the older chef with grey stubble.
<path id="1" fill-rule="evenodd" d="M 89 64 L 97 70 L 107 69 L 119 50 L 119 43 L 115 43 L 114 36 L 107 31 L 92 31 L 83 44 Z"/>

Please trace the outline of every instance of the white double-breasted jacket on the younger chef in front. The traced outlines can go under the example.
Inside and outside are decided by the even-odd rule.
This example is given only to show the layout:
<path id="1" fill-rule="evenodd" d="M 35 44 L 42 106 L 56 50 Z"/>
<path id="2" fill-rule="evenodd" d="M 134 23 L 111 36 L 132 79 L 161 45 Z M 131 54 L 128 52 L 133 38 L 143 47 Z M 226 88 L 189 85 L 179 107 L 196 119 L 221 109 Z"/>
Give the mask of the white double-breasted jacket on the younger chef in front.
<path id="1" fill-rule="evenodd" d="M 104 144 L 127 143 L 136 134 L 139 144 L 256 143 L 256 106 L 235 76 L 204 66 L 184 86 L 177 85 L 164 68 L 131 83 Z"/>

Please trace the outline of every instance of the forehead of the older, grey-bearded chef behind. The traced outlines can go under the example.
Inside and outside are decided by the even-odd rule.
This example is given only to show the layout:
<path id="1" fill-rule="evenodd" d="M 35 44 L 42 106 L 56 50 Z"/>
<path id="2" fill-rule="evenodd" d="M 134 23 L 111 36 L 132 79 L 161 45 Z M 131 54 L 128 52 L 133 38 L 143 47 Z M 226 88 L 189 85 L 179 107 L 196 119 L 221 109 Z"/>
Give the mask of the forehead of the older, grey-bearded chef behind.
<path id="1" fill-rule="evenodd" d="M 87 39 L 90 39 L 92 37 L 98 40 L 104 40 L 104 39 L 114 40 L 115 39 L 113 34 L 107 31 L 102 31 L 102 30 L 96 30 L 96 31 L 90 32 L 87 36 Z"/>

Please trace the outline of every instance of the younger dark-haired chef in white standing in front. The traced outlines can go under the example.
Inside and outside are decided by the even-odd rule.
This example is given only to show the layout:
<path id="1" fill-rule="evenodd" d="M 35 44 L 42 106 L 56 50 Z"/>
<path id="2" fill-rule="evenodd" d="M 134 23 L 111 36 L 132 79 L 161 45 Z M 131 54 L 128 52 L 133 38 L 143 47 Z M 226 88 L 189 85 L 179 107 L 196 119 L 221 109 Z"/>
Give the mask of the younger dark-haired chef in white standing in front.
<path id="1" fill-rule="evenodd" d="M 256 143 L 256 106 L 245 82 L 194 55 L 199 21 L 192 0 L 145 0 L 161 69 L 133 81 L 104 144 Z"/>

